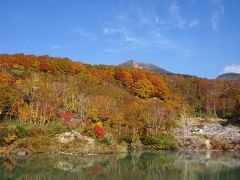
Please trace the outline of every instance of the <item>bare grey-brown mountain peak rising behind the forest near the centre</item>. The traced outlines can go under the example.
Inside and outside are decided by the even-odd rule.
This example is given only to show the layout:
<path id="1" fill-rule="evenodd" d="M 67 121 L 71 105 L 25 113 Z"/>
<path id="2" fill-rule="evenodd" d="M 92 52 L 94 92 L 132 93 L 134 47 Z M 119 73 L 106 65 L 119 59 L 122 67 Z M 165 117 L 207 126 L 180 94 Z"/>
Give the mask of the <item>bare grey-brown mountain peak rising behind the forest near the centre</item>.
<path id="1" fill-rule="evenodd" d="M 127 67 L 133 67 L 133 68 L 140 68 L 140 69 L 147 69 L 149 71 L 155 72 L 157 74 L 165 74 L 165 75 L 172 75 L 173 73 L 170 71 L 167 71 L 159 66 L 156 66 L 154 64 L 146 64 L 146 63 L 142 63 L 136 60 L 129 60 L 126 61 L 122 64 L 120 64 L 120 66 L 127 66 Z"/>

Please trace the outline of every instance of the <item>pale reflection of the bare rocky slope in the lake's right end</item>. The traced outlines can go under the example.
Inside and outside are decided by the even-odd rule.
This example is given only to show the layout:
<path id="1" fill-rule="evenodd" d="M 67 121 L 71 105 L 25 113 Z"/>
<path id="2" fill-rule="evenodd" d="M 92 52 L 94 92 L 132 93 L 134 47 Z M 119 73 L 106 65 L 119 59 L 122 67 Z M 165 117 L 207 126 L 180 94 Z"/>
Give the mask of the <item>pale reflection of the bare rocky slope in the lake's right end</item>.
<path id="1" fill-rule="evenodd" d="M 236 152 L 185 152 L 178 154 L 175 165 L 182 167 L 182 179 L 231 179 L 226 176 L 240 170 L 239 160 Z M 239 179 L 236 177 L 233 179 Z"/>

